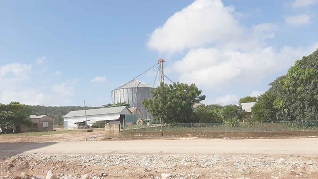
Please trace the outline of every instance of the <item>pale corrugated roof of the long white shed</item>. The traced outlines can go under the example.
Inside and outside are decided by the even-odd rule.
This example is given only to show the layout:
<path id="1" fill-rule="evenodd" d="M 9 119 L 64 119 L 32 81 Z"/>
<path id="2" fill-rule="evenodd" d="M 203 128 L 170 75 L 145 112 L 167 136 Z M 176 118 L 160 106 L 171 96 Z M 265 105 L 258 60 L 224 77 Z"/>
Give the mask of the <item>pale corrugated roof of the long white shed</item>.
<path id="1" fill-rule="evenodd" d="M 88 110 L 86 110 L 86 115 L 89 116 L 89 115 L 120 113 L 125 108 L 126 108 L 126 106 L 88 109 Z M 85 110 L 71 111 L 71 112 L 67 113 L 65 116 L 63 116 L 63 118 L 65 118 L 65 117 L 77 117 L 77 116 L 85 116 Z"/>

